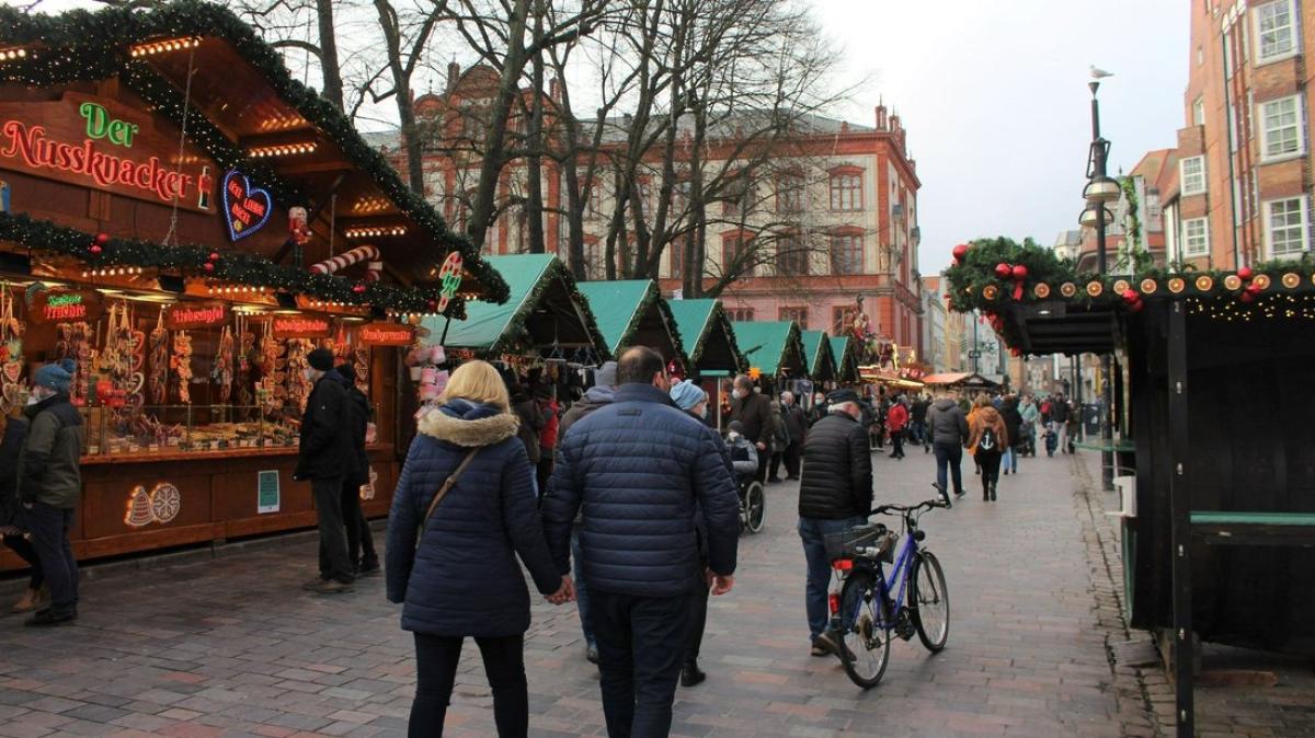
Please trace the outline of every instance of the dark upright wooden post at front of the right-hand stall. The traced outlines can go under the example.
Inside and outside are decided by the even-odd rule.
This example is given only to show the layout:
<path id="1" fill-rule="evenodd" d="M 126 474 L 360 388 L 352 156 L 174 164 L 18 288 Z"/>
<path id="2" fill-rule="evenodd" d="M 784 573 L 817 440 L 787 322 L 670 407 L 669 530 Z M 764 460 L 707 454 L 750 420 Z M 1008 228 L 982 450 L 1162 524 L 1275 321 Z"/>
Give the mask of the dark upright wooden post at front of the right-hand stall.
<path id="1" fill-rule="evenodd" d="M 1173 559 L 1174 722 L 1178 738 L 1191 738 L 1191 499 L 1186 485 L 1187 439 L 1187 318 L 1182 301 L 1169 307 L 1169 508 Z"/>

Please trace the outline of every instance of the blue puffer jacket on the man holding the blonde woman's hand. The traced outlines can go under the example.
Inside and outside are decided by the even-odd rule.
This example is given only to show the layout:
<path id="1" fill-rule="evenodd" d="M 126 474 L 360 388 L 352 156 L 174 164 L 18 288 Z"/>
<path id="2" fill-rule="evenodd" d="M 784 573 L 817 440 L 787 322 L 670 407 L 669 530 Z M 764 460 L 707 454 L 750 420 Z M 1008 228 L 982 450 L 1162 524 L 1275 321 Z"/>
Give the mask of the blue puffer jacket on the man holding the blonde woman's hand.
<path id="1" fill-rule="evenodd" d="M 721 441 L 661 390 L 622 385 L 567 435 L 543 520 L 558 571 L 569 571 L 571 521 L 583 510 L 585 586 L 671 597 L 702 582 L 697 508 L 707 527 L 707 566 L 732 574 L 739 498 Z"/>

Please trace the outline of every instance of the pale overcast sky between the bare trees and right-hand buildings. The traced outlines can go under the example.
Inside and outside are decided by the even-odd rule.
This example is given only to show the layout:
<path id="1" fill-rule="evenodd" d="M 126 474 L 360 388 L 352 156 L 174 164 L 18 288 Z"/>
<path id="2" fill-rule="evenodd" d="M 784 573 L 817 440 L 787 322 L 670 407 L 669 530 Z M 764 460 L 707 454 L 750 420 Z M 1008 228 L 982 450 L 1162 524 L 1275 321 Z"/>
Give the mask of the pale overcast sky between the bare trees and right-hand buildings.
<path id="1" fill-rule="evenodd" d="M 865 79 L 844 117 L 872 125 L 880 96 L 909 130 L 922 180 L 919 267 L 953 244 L 1077 227 L 1091 141 L 1091 64 L 1110 173 L 1174 146 L 1187 84 L 1187 0 L 814 0 Z M 1097 13 L 1095 11 L 1101 12 Z"/>

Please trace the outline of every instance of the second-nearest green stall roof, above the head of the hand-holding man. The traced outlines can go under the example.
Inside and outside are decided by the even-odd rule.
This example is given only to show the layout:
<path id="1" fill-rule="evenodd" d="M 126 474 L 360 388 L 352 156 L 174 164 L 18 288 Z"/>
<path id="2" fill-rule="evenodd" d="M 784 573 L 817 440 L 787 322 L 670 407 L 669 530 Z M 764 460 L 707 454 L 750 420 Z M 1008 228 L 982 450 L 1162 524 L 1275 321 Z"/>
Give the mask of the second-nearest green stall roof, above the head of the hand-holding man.
<path id="1" fill-rule="evenodd" d="M 652 280 L 623 280 L 580 282 L 580 293 L 589 301 L 598 331 L 608 341 L 608 351 L 621 356 L 622 349 L 647 345 L 689 366 L 689 357 L 681 343 L 681 334 L 667 301 L 661 298 L 658 282 Z"/>

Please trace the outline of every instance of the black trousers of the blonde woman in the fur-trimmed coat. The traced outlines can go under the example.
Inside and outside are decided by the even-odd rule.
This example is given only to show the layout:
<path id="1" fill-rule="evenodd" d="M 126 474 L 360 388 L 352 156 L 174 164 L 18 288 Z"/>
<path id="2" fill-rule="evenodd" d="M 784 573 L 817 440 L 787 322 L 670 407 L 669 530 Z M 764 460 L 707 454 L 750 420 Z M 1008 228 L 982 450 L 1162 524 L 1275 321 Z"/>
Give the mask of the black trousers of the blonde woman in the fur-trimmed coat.
<path id="1" fill-rule="evenodd" d="M 462 658 L 460 636 L 416 633 L 416 700 L 412 703 L 412 738 L 443 735 L 443 720 L 452 699 L 456 664 Z M 525 683 L 525 636 L 475 638 L 484 657 L 484 674 L 493 689 L 493 722 L 500 738 L 523 738 L 530 733 L 530 697 Z"/>

